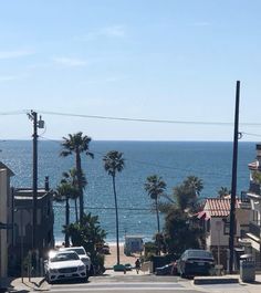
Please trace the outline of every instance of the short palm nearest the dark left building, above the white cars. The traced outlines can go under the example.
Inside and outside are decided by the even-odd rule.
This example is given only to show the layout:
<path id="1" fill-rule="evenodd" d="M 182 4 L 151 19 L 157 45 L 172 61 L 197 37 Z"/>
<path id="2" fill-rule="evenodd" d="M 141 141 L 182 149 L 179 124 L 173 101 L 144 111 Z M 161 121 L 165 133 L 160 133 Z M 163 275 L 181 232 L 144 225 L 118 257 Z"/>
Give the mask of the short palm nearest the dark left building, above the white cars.
<path id="1" fill-rule="evenodd" d="M 58 202 L 65 201 L 65 228 L 70 224 L 70 198 L 75 193 L 75 188 L 63 180 L 61 180 L 60 185 L 56 187 L 56 190 L 54 192 L 53 199 Z M 70 245 L 69 242 L 69 234 L 65 230 L 65 238 L 64 238 L 65 247 L 67 248 Z"/>

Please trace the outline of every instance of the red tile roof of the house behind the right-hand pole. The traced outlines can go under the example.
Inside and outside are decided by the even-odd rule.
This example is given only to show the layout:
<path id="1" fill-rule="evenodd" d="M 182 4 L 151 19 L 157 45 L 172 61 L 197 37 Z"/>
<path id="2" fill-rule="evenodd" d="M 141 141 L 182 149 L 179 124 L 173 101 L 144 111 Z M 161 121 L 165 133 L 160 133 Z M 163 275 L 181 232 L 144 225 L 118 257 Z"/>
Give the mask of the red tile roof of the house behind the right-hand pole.
<path id="1" fill-rule="evenodd" d="M 239 200 L 236 200 L 236 208 L 239 208 Z M 228 217 L 230 213 L 230 199 L 208 198 L 203 210 L 210 217 Z"/>

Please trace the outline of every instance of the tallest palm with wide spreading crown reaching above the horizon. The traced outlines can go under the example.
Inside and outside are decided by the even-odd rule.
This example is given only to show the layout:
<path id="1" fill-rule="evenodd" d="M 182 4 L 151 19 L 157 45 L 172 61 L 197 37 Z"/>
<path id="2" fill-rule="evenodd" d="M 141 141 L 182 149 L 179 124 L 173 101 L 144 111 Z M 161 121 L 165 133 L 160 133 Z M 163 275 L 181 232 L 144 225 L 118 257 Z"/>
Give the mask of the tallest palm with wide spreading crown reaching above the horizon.
<path id="1" fill-rule="evenodd" d="M 84 153 L 86 156 L 91 158 L 94 157 L 92 153 L 90 153 L 88 144 L 92 138 L 88 136 L 83 136 L 83 133 L 76 133 L 74 135 L 69 134 L 69 137 L 63 137 L 64 142 L 62 143 L 62 151 L 61 156 L 66 157 L 69 155 L 75 155 L 75 167 L 76 167 L 76 177 L 77 177 L 77 188 L 79 188 L 79 199 L 80 199 L 80 222 L 83 221 L 84 214 L 84 200 L 83 200 L 83 172 L 82 172 L 82 163 L 81 163 L 81 154 Z"/>

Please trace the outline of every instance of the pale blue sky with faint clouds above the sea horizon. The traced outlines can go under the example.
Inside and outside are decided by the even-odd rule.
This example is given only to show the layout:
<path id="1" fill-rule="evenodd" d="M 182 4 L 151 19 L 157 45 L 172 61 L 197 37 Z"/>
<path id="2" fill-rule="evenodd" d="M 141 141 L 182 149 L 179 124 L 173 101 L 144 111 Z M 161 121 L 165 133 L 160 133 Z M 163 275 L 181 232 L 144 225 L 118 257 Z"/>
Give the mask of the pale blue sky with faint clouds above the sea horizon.
<path id="1" fill-rule="evenodd" d="M 0 139 L 30 139 L 35 109 L 45 138 L 232 140 L 232 124 L 184 122 L 232 123 L 240 80 L 240 130 L 259 140 L 260 13 L 259 0 L 2 0 Z"/>

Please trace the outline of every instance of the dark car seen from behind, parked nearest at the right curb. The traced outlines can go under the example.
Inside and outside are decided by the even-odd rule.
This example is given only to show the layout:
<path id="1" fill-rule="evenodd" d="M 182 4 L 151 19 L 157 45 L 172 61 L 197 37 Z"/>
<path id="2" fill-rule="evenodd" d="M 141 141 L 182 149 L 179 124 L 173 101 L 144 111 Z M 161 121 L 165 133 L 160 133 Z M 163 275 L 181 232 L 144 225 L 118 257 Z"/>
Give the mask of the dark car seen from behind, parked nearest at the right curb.
<path id="1" fill-rule="evenodd" d="M 213 268 L 213 255 L 210 251 L 207 250 L 186 250 L 177 261 L 177 270 L 182 278 L 194 275 L 209 275 Z"/>

